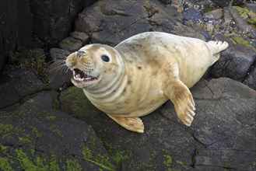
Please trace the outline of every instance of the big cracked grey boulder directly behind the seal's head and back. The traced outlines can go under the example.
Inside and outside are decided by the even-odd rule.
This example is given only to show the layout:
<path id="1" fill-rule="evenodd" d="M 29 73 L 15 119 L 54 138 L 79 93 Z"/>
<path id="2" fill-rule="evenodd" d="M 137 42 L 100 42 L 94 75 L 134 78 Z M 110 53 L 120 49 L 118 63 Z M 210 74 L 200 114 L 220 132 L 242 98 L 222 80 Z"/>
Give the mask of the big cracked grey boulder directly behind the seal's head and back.
<path id="1" fill-rule="evenodd" d="M 95 13 L 97 15 L 93 15 Z M 164 31 L 205 39 L 195 30 L 172 19 L 153 3 L 143 1 L 122 1 L 118 4 L 114 0 L 96 2 L 79 14 L 75 31 L 88 34 L 93 43 L 110 46 L 146 31 Z"/>

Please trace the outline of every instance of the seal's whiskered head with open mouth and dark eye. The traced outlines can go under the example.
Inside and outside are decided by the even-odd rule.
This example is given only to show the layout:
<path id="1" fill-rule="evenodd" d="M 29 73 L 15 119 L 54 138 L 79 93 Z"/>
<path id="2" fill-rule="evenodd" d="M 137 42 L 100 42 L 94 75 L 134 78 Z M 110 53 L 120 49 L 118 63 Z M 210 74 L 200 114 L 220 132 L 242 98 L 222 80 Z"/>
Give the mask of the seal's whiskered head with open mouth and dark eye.
<path id="1" fill-rule="evenodd" d="M 100 89 L 110 86 L 124 70 L 120 54 L 103 44 L 89 44 L 66 59 L 73 72 L 72 83 L 82 89 Z"/>

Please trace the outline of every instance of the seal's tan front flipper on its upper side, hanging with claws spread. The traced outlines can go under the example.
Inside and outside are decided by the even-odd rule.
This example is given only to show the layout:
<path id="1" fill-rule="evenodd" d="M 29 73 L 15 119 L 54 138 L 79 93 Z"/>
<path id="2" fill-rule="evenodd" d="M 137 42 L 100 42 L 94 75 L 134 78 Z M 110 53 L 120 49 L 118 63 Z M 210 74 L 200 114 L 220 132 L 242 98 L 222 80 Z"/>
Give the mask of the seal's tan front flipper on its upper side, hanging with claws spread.
<path id="1" fill-rule="evenodd" d="M 170 98 L 177 117 L 187 126 L 191 126 L 195 116 L 195 102 L 188 87 L 180 79 L 171 80 L 163 92 Z"/>

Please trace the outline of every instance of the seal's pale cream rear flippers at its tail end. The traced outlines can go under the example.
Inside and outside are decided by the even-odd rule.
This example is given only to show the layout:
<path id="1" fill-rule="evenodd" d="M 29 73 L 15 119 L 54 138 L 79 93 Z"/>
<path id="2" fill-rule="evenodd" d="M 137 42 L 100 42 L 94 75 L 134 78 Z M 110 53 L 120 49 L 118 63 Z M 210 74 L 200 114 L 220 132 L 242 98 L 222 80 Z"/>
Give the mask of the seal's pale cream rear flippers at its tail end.
<path id="1" fill-rule="evenodd" d="M 207 44 L 209 45 L 209 47 L 211 47 L 212 49 L 212 56 L 213 56 L 213 61 L 212 64 L 213 65 L 216 61 L 219 60 L 219 52 L 225 50 L 227 47 L 229 47 L 229 44 L 226 43 L 226 41 L 209 41 L 207 42 Z"/>

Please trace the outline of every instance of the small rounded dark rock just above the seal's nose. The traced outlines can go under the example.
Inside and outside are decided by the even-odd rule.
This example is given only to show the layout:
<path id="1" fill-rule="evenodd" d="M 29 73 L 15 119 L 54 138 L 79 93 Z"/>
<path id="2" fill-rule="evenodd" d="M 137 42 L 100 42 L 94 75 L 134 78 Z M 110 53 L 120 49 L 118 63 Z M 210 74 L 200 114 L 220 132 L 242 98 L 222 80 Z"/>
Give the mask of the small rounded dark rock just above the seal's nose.
<path id="1" fill-rule="evenodd" d="M 58 47 L 71 53 L 78 51 L 82 47 L 82 41 L 76 40 L 72 37 L 67 37 L 64 40 L 61 40 L 61 42 L 58 44 Z"/>

